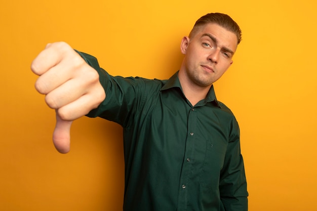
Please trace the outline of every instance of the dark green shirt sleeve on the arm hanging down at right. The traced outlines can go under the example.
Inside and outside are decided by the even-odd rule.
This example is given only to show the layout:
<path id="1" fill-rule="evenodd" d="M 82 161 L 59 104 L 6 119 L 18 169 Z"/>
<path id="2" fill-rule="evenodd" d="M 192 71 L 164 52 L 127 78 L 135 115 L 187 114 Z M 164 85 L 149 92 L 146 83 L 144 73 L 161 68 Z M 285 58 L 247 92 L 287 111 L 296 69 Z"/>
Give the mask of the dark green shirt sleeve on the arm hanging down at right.
<path id="1" fill-rule="evenodd" d="M 229 143 L 220 174 L 220 198 L 225 210 L 247 211 L 247 181 L 240 148 L 240 130 L 235 118 L 231 122 Z"/>

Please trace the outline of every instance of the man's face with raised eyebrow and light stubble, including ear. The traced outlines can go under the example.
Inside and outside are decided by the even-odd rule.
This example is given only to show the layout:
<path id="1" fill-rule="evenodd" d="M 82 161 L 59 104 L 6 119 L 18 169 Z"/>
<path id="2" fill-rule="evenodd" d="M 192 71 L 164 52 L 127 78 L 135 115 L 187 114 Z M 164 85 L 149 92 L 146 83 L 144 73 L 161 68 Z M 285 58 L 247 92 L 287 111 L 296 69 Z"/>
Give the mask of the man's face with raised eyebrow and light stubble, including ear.
<path id="1" fill-rule="evenodd" d="M 184 37 L 185 55 L 179 74 L 193 86 L 209 87 L 232 64 L 236 35 L 215 23 L 201 26 L 190 38 Z"/>

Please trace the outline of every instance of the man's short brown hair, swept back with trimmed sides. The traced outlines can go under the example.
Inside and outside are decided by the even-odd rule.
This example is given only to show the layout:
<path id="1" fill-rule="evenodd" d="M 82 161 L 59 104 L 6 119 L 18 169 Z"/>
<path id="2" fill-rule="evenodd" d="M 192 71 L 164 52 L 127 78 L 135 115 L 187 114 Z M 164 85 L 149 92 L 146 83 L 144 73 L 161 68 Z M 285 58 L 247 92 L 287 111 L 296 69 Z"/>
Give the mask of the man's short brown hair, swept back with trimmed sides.
<path id="1" fill-rule="evenodd" d="M 236 35 L 237 44 L 240 44 L 242 40 L 242 32 L 239 25 L 237 25 L 237 23 L 230 16 L 222 13 L 208 13 L 207 15 L 202 16 L 196 21 L 189 33 L 189 37 L 193 36 L 200 26 L 204 26 L 208 23 L 216 23 L 228 31 L 233 32 Z"/>

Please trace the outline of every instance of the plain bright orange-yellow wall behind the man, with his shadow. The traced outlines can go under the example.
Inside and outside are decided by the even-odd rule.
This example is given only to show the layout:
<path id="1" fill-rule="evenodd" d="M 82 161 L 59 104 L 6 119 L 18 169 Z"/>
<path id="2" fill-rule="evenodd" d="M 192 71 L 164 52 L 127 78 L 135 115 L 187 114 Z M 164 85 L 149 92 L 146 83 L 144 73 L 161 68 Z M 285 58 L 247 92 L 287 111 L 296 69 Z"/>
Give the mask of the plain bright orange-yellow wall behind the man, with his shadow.
<path id="1" fill-rule="evenodd" d="M 317 3 L 4 1 L 0 3 L 0 210 L 122 210 L 122 129 L 73 123 L 71 152 L 51 141 L 54 111 L 36 93 L 33 58 L 54 41 L 90 53 L 113 75 L 168 78 L 180 41 L 209 12 L 242 28 L 218 100 L 241 127 L 249 210 L 317 210 Z"/>

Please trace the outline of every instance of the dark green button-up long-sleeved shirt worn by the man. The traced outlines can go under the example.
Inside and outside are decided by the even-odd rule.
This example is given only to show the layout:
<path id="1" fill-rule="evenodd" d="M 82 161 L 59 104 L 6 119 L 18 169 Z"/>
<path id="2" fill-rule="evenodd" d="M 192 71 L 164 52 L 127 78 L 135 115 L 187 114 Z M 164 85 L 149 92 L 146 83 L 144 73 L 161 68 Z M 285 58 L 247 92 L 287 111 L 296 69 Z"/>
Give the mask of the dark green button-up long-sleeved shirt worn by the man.
<path id="1" fill-rule="evenodd" d="M 168 80 L 113 77 L 80 54 L 106 92 L 88 116 L 123 126 L 125 211 L 248 209 L 239 125 L 213 87 L 193 106 L 178 73 Z"/>

